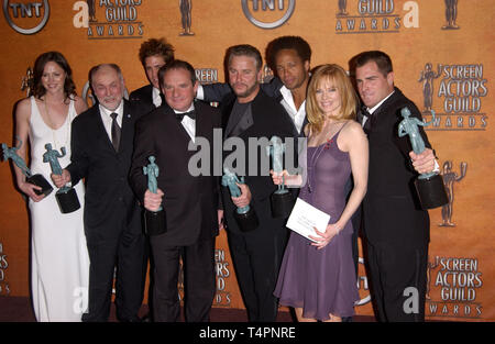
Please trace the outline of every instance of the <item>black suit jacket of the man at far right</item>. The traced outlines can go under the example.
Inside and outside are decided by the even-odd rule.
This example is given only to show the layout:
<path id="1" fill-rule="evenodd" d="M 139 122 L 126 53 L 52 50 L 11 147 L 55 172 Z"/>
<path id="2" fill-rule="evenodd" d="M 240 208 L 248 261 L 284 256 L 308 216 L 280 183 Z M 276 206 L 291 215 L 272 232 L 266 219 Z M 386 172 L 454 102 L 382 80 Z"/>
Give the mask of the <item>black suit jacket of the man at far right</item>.
<path id="1" fill-rule="evenodd" d="M 364 232 L 374 246 L 421 247 L 429 242 L 429 217 L 421 210 L 414 187 L 414 170 L 408 137 L 398 137 L 400 110 L 408 107 L 411 116 L 422 120 L 413 101 L 395 92 L 372 116 L 367 193 L 363 201 Z M 419 127 L 425 144 L 430 143 Z M 400 249 L 400 248 L 399 248 Z"/>

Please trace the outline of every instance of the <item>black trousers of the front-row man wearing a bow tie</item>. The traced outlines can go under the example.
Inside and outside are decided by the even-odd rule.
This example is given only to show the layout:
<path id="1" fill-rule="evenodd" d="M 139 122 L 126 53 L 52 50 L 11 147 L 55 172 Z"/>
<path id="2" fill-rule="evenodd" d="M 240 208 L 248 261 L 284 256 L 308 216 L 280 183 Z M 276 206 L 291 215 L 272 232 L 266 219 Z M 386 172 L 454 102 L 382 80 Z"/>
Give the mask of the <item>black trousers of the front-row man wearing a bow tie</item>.
<path id="1" fill-rule="evenodd" d="M 177 282 L 183 258 L 185 319 L 209 321 L 215 297 L 215 237 L 190 246 L 169 246 L 160 236 L 151 238 L 154 262 L 153 319 L 175 322 L 180 317 Z"/>

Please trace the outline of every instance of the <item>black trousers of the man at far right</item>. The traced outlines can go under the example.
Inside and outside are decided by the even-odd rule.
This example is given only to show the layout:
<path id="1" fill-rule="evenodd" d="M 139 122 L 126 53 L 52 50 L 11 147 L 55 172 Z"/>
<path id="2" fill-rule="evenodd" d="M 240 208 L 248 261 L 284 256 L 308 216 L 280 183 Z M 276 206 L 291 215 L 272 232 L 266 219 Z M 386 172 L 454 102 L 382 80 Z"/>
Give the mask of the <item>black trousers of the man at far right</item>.
<path id="1" fill-rule="evenodd" d="M 377 320 L 425 321 L 428 244 L 409 248 L 376 247 L 369 243 L 367 264 Z"/>

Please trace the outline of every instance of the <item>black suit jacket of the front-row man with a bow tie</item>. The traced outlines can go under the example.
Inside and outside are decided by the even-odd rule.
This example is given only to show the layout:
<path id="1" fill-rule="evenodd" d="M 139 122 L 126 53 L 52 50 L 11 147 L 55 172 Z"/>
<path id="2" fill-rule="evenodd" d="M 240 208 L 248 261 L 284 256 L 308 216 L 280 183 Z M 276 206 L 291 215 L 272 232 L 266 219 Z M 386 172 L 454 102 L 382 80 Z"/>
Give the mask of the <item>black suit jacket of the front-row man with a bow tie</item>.
<path id="1" fill-rule="evenodd" d="M 213 146 L 213 129 L 220 129 L 220 112 L 199 101 L 195 102 L 195 109 L 196 143 L 199 145 L 198 137 L 205 137 L 209 143 L 209 147 L 198 146 L 198 152 L 206 153 L 205 157 L 211 163 L 213 148 L 221 149 L 221 146 Z M 160 167 L 157 182 L 164 192 L 163 208 L 167 220 L 167 232 L 162 235 L 164 242 L 174 246 L 191 245 L 218 234 L 219 179 L 211 171 L 213 164 L 210 164 L 209 176 L 189 174 L 189 160 L 198 156 L 198 152 L 188 151 L 190 142 L 169 107 L 157 108 L 136 124 L 131 185 L 143 202 L 147 189 L 143 166 L 150 164 L 148 157 L 154 155 Z M 207 153 L 207 148 L 210 152 Z"/>

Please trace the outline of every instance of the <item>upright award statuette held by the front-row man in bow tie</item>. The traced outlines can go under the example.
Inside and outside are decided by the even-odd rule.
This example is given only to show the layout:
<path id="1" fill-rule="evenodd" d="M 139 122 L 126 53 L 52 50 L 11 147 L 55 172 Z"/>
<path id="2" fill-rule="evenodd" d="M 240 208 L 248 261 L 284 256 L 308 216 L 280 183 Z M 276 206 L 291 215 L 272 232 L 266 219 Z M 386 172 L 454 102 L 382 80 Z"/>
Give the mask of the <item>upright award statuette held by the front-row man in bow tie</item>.
<path id="1" fill-rule="evenodd" d="M 143 173 L 147 176 L 147 188 L 151 192 L 156 193 L 158 189 L 160 168 L 155 164 L 155 157 L 152 155 L 147 158 L 150 164 L 143 166 Z M 165 210 L 160 206 L 157 211 L 144 210 L 144 233 L 147 235 L 160 235 L 167 231 L 167 221 Z"/>

